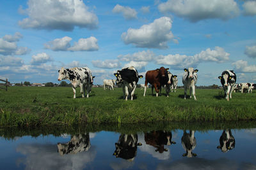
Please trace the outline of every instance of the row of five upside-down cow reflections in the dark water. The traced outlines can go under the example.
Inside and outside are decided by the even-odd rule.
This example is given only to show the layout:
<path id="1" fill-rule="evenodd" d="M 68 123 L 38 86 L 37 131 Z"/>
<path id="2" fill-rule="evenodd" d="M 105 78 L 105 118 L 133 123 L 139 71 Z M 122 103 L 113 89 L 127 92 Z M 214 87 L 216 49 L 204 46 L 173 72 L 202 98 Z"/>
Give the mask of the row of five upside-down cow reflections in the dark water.
<path id="1" fill-rule="evenodd" d="M 156 152 L 164 153 L 168 152 L 166 146 L 176 144 L 172 140 L 171 131 L 150 131 L 145 132 L 144 140 L 146 145 L 153 146 Z M 113 155 L 116 158 L 122 158 L 129 161 L 134 160 L 137 153 L 137 146 L 142 144 L 138 142 L 137 134 L 120 134 L 118 142 L 115 143 L 115 152 Z M 196 157 L 196 153 L 193 152 L 196 147 L 195 131 L 183 131 L 181 138 L 181 145 L 186 153 L 183 153 L 183 157 Z M 226 153 L 228 150 L 235 148 L 236 141 L 230 129 L 224 129 L 220 136 L 220 145 L 217 146 L 221 152 Z M 58 152 L 60 155 L 76 154 L 79 152 L 86 152 L 90 149 L 90 136 L 89 133 L 77 134 L 72 136 L 68 143 L 58 143 Z"/>

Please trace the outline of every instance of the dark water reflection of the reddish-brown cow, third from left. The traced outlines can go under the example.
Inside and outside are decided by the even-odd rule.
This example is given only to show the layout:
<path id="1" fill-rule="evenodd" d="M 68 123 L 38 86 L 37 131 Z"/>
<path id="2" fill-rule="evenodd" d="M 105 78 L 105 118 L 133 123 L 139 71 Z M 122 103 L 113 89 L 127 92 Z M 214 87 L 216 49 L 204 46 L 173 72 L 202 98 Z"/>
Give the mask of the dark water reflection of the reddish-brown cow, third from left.
<path id="1" fill-rule="evenodd" d="M 156 152 L 159 153 L 168 151 L 164 148 L 164 145 L 175 144 L 175 142 L 172 141 L 172 132 L 166 131 L 152 131 L 145 133 L 145 142 L 148 145 L 154 146 L 154 148 L 156 148 Z"/>

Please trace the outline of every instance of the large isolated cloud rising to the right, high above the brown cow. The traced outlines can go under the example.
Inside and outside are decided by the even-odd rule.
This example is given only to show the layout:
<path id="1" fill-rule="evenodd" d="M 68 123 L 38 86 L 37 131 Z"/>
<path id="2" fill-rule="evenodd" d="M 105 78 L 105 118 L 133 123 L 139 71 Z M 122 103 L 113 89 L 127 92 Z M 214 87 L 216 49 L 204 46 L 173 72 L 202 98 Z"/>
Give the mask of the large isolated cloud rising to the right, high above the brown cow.
<path id="1" fill-rule="evenodd" d="M 122 33 L 122 40 L 125 44 L 132 44 L 144 48 L 168 48 L 167 42 L 173 38 L 172 20 L 168 17 L 161 17 L 148 25 L 142 25 L 140 29 L 129 28 Z"/>

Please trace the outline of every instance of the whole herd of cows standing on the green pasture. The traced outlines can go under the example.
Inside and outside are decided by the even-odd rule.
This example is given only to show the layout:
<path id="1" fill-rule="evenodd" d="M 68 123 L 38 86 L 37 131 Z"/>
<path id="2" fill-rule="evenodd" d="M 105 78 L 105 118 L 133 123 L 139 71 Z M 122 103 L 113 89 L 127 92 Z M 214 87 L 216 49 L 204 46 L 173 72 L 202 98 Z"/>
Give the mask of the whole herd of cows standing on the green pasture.
<path id="1" fill-rule="evenodd" d="M 194 99 L 195 96 L 195 85 L 197 82 L 197 73 L 198 69 L 193 69 L 193 67 L 189 67 L 188 69 L 184 69 L 184 75 L 182 77 L 182 83 L 184 85 L 184 99 L 187 96 L 187 89 L 190 92 L 190 98 L 193 94 Z M 125 67 L 122 70 L 118 70 L 114 73 L 116 76 L 116 80 L 104 80 L 103 86 L 104 90 L 106 86 L 111 87 L 113 90 L 113 86 L 121 85 L 124 92 L 124 99 L 127 101 L 128 96 L 131 96 L 131 100 L 134 97 L 134 92 L 139 81 L 139 78 L 143 78 L 142 75 L 138 74 L 138 71 L 135 67 Z M 92 90 L 93 84 L 92 71 L 88 67 L 74 67 L 71 69 L 61 68 L 59 70 L 58 80 L 70 80 L 72 83 L 72 89 L 74 91 L 74 98 L 76 98 L 76 87 L 81 87 L 81 94 L 84 97 L 85 90 L 87 92 L 86 97 L 89 97 L 89 93 Z M 240 83 L 236 84 L 236 73 L 232 70 L 223 71 L 221 76 L 219 76 L 221 85 L 223 86 L 223 90 L 225 92 L 225 96 L 227 101 L 232 98 L 232 92 L 235 90 L 243 91 L 245 89 L 248 92 L 252 92 L 252 89 L 256 89 L 255 83 Z M 161 93 L 162 87 L 166 90 L 166 96 L 169 97 L 170 89 L 176 90 L 177 88 L 177 75 L 173 75 L 168 71 L 168 68 L 160 67 L 159 69 L 147 71 L 145 74 L 145 85 L 141 85 L 144 87 L 144 94 L 146 95 L 148 83 L 152 85 L 152 94 L 153 89 L 156 90 L 156 96 L 159 96 L 159 92 Z"/>

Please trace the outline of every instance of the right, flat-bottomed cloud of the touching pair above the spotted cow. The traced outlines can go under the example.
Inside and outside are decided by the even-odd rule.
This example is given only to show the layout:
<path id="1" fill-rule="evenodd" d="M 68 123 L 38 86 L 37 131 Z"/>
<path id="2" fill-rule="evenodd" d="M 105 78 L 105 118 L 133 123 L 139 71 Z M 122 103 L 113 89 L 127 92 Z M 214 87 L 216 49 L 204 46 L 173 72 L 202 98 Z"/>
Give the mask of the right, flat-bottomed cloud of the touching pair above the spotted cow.
<path id="1" fill-rule="evenodd" d="M 91 36 L 90 38 L 80 38 L 78 42 L 68 48 L 70 51 L 97 51 L 99 50 L 98 39 Z"/>

